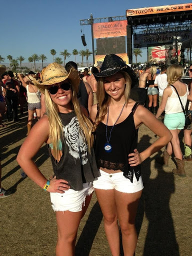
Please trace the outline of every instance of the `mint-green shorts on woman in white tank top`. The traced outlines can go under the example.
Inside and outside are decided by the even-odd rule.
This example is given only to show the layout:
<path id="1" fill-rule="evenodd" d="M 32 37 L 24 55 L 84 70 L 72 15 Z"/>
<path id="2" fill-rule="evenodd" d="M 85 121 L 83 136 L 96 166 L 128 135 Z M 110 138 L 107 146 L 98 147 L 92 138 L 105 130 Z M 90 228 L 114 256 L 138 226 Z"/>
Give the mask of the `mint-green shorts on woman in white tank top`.
<path id="1" fill-rule="evenodd" d="M 183 112 L 175 114 L 164 114 L 164 125 L 169 130 L 183 129 L 185 124 L 185 117 Z"/>

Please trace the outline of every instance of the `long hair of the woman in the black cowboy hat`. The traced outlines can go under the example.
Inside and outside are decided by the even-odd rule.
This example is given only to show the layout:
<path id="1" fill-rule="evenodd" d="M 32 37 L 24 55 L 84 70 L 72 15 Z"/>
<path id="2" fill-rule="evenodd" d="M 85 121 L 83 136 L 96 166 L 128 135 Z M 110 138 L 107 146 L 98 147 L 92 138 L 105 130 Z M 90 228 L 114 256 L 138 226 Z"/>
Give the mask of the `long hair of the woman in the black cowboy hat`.
<path id="1" fill-rule="evenodd" d="M 131 87 L 131 79 L 130 76 L 125 71 L 119 71 L 124 79 L 125 79 L 125 88 L 124 88 L 124 97 L 125 97 L 125 105 L 128 103 L 130 87 Z M 105 114 L 107 113 L 107 106 L 110 103 L 110 96 L 104 90 L 104 77 L 100 77 L 97 81 L 97 90 L 96 90 L 96 98 L 98 100 L 98 115 L 96 116 L 93 131 L 95 131 L 98 124 L 104 119 Z"/>

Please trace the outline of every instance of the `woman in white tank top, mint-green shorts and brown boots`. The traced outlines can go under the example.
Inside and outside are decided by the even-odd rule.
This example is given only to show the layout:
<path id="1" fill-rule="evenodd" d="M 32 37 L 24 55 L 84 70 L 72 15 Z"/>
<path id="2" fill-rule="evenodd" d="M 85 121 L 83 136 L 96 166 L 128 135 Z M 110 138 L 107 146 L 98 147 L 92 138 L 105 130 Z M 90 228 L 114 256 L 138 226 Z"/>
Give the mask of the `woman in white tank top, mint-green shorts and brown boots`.
<path id="1" fill-rule="evenodd" d="M 166 74 L 168 85 L 163 90 L 162 101 L 157 110 L 156 118 L 158 118 L 162 111 L 165 110 L 164 125 L 172 133 L 172 139 L 167 144 L 162 158 L 156 158 L 156 161 L 168 166 L 168 159 L 170 155 L 174 153 L 177 168 L 174 168 L 172 172 L 184 177 L 186 174 L 178 134 L 180 130 L 184 128 L 185 117 L 175 88 L 179 94 L 182 105 L 185 108 L 188 86 L 180 80 L 182 76 L 182 67 L 180 65 L 172 64 L 168 67 Z"/>

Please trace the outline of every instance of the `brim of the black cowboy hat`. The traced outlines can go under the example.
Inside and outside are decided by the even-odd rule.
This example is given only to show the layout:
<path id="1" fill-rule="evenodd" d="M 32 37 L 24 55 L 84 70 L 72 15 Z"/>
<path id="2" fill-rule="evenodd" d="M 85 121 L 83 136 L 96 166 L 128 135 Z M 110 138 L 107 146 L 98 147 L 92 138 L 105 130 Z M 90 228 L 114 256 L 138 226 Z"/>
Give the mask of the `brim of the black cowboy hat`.
<path id="1" fill-rule="evenodd" d="M 138 78 L 136 77 L 136 74 L 132 70 L 132 68 L 130 68 L 128 65 L 125 65 L 122 67 L 108 68 L 101 72 L 93 73 L 93 75 L 96 76 L 95 79 L 98 80 L 99 77 L 107 77 L 107 76 L 117 73 L 118 71 L 125 71 L 130 76 L 131 87 L 133 87 L 137 83 Z"/>

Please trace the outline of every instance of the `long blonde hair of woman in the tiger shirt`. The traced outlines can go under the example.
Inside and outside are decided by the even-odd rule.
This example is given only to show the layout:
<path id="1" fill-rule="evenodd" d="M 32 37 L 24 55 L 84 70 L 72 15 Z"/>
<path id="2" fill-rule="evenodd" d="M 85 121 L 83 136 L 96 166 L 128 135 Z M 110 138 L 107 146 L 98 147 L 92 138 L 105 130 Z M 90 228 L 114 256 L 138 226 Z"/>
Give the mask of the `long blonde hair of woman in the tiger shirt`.
<path id="1" fill-rule="evenodd" d="M 50 94 L 47 90 L 47 87 L 48 86 L 45 86 L 44 95 L 45 95 L 46 114 L 48 116 L 48 121 L 49 121 L 49 136 L 53 146 L 53 154 L 57 156 L 59 141 L 60 139 L 64 140 L 63 125 L 59 116 L 58 106 L 52 101 Z M 92 143 L 90 140 L 92 123 L 86 117 L 86 115 L 81 111 L 78 99 L 76 97 L 76 92 L 72 88 L 72 85 L 71 85 L 71 90 L 72 90 L 71 104 L 72 104 L 72 107 L 74 108 L 79 125 L 83 130 L 83 134 L 81 135 L 84 138 L 84 141 L 87 143 L 88 151 L 90 152 L 92 147 Z"/>

